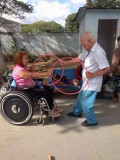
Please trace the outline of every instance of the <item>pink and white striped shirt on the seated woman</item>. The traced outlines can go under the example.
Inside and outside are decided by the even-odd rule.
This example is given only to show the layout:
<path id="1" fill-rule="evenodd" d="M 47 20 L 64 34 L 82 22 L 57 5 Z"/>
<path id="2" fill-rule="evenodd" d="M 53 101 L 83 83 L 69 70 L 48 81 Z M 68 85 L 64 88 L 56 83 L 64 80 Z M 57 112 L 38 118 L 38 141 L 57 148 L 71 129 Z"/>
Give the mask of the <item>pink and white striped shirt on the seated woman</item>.
<path id="1" fill-rule="evenodd" d="M 35 82 L 32 79 L 19 77 L 19 72 L 22 70 L 26 70 L 26 68 L 17 64 L 12 72 L 12 77 L 16 81 L 17 86 L 35 86 Z"/>

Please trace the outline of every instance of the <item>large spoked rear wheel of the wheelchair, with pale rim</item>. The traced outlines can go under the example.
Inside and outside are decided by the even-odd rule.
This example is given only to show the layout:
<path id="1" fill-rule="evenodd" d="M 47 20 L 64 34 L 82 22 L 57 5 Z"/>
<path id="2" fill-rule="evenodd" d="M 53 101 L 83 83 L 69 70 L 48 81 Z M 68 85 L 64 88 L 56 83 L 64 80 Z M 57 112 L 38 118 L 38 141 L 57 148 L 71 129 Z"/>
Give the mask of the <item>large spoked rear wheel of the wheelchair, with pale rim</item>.
<path id="1" fill-rule="evenodd" d="M 33 105 L 29 97 L 20 91 L 5 94 L 0 102 L 3 118 L 15 125 L 27 123 L 33 114 Z"/>

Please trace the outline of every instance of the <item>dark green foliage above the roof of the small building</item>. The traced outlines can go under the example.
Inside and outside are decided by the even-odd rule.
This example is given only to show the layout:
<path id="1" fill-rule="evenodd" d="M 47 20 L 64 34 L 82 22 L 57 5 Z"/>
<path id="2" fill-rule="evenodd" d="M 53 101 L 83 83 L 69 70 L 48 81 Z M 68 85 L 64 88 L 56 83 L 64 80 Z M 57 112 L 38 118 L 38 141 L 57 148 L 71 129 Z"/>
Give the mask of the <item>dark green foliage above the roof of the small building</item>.
<path id="1" fill-rule="evenodd" d="M 115 9 L 120 8 L 119 0 L 87 0 L 84 6 L 85 8 L 103 8 L 103 9 Z"/>

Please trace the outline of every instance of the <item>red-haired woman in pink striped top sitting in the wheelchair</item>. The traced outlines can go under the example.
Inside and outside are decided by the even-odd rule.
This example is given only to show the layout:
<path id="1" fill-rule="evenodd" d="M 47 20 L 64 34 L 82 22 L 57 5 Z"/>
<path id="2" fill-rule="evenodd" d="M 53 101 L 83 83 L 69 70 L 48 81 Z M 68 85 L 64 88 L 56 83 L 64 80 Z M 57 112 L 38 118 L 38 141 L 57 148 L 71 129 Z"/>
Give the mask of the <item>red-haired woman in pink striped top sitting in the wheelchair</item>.
<path id="1" fill-rule="evenodd" d="M 26 69 L 29 62 L 29 56 L 26 51 L 18 51 L 14 58 L 15 67 L 12 72 L 12 77 L 16 81 L 18 88 L 27 88 L 25 91 L 30 95 L 35 95 L 35 97 L 45 98 L 50 111 L 49 116 L 58 117 L 61 115 L 62 108 L 54 106 L 53 102 L 53 91 L 47 85 L 42 84 L 36 85 L 37 79 L 40 77 L 48 76 L 48 72 L 31 72 Z"/>

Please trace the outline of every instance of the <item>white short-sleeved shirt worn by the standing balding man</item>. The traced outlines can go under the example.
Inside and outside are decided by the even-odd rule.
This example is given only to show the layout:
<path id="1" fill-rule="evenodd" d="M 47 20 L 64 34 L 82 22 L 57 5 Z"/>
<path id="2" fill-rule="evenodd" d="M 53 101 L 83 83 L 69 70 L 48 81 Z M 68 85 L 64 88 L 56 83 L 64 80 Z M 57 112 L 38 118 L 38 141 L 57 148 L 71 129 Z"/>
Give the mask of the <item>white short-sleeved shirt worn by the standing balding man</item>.
<path id="1" fill-rule="evenodd" d="M 88 51 L 85 50 L 80 55 L 80 60 L 84 62 L 83 73 L 82 73 L 83 90 L 91 90 L 99 92 L 101 90 L 103 76 L 101 75 L 88 80 L 85 72 L 89 71 L 91 73 L 94 73 L 96 71 L 109 67 L 105 51 L 96 42 L 91 48 L 89 55 Z"/>

